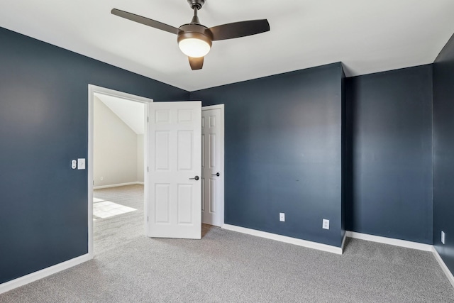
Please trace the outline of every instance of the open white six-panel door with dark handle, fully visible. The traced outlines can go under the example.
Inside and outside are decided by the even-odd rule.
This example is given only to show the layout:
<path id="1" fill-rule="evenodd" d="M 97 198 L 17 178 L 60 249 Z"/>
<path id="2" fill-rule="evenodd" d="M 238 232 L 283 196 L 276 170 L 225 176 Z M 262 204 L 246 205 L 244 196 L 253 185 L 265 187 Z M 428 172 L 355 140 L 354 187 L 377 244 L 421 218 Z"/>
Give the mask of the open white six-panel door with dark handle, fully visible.
<path id="1" fill-rule="evenodd" d="M 201 102 L 148 111 L 148 236 L 201 238 Z"/>

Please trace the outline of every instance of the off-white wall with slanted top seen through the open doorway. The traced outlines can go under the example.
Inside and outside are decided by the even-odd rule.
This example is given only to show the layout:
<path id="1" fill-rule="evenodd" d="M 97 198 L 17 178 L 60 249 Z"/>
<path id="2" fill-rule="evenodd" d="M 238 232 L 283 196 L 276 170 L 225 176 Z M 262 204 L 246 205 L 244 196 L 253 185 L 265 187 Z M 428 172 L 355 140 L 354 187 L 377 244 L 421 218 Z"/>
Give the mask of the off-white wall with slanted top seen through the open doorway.
<path id="1" fill-rule="evenodd" d="M 98 97 L 93 148 L 94 187 L 143 182 L 143 134 L 135 133 Z"/>

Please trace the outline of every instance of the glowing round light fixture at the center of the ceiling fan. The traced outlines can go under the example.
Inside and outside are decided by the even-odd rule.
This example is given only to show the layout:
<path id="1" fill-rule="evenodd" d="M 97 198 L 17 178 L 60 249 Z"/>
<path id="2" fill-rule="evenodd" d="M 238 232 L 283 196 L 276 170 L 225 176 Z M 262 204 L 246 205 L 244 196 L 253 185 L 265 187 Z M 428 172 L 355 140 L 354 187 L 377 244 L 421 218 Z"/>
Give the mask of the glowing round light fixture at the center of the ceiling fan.
<path id="1" fill-rule="evenodd" d="M 188 57 L 204 57 L 211 49 L 211 39 L 203 33 L 181 33 L 178 35 L 178 46 Z"/>

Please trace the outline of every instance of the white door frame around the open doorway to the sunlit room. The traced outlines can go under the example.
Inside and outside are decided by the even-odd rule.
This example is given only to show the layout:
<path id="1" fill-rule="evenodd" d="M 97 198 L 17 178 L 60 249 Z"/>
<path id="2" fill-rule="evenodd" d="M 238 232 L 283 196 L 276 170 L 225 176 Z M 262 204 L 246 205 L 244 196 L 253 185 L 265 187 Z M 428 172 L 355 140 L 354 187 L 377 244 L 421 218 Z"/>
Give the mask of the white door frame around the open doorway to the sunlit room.
<path id="1" fill-rule="evenodd" d="M 88 84 L 88 153 L 87 153 L 87 167 L 88 167 L 88 254 L 89 259 L 94 257 L 93 253 L 93 139 L 94 139 L 94 93 L 106 94 L 112 97 L 118 97 L 121 99 L 127 99 L 130 101 L 140 102 L 145 105 L 144 121 L 146 122 L 148 115 L 148 104 L 153 102 L 153 99 L 145 97 L 135 96 L 133 94 L 127 94 L 125 92 L 119 92 L 114 89 L 107 89 L 105 87 L 97 87 L 92 84 Z M 145 123 L 145 126 L 147 123 Z M 143 168 L 144 168 L 144 211 L 143 211 L 143 228 L 144 234 L 147 235 L 147 214 L 148 214 L 148 129 L 145 127 L 145 133 L 143 135 Z"/>

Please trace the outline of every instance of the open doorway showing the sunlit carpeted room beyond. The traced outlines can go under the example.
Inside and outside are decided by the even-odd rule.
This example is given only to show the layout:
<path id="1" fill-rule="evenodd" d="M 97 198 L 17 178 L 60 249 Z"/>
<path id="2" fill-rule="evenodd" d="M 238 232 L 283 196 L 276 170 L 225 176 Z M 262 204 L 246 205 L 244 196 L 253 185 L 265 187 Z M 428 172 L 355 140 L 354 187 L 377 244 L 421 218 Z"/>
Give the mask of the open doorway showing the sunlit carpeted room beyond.
<path id="1" fill-rule="evenodd" d="M 89 255 L 146 234 L 151 99 L 89 85 Z"/>

